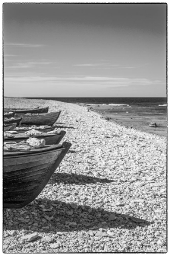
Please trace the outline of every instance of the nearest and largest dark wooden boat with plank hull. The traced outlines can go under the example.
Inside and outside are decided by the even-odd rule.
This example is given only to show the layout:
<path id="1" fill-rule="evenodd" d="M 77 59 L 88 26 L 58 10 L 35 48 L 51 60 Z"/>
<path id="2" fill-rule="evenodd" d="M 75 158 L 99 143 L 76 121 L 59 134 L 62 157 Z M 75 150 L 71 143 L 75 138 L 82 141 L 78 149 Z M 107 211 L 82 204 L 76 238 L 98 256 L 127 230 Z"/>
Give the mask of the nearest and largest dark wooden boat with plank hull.
<path id="1" fill-rule="evenodd" d="M 5 208 L 22 208 L 49 182 L 71 143 L 31 151 L 4 152 L 3 202 Z"/>

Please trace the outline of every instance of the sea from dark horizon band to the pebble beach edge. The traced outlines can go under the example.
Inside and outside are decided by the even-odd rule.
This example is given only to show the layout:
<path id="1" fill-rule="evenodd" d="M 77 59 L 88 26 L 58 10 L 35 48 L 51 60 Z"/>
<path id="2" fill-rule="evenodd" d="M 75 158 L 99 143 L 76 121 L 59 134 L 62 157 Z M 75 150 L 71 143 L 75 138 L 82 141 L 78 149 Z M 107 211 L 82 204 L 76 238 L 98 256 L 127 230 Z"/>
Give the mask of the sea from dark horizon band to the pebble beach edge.
<path id="1" fill-rule="evenodd" d="M 39 99 L 39 98 L 34 98 Z M 167 98 L 40 98 L 81 105 L 115 123 L 167 136 Z M 149 124 L 156 123 L 156 127 Z"/>

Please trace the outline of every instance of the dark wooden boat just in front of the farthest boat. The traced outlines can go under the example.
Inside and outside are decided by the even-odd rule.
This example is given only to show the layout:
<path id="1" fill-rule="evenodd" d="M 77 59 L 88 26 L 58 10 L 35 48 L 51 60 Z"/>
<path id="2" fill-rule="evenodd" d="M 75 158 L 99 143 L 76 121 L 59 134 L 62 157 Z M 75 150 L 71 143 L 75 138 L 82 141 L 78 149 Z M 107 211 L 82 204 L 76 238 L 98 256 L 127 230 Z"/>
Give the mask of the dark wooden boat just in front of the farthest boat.
<path id="1" fill-rule="evenodd" d="M 22 118 L 22 124 L 35 124 L 38 126 L 53 126 L 56 120 L 59 118 L 61 111 L 50 113 L 38 113 L 38 114 L 16 114 L 15 117 Z"/>

